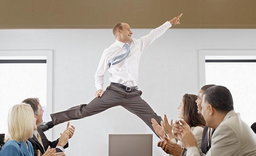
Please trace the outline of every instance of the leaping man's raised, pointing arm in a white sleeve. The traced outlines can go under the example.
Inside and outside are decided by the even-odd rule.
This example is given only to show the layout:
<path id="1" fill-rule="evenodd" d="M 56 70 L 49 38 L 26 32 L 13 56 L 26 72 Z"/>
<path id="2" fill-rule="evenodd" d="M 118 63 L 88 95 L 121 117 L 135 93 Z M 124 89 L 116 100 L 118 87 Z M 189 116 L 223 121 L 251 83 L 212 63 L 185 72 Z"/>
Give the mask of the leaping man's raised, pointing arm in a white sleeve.
<path id="1" fill-rule="evenodd" d="M 138 47 L 140 47 L 141 53 L 143 53 L 149 47 L 149 45 L 153 43 L 158 37 L 163 35 L 166 32 L 166 30 L 168 30 L 168 28 L 172 27 L 172 25 L 181 24 L 181 16 L 182 14 L 180 14 L 177 17 L 174 17 L 170 21 L 166 21 L 163 25 L 161 25 L 158 28 L 155 28 L 149 34 L 137 39 L 136 44 L 138 45 Z"/>

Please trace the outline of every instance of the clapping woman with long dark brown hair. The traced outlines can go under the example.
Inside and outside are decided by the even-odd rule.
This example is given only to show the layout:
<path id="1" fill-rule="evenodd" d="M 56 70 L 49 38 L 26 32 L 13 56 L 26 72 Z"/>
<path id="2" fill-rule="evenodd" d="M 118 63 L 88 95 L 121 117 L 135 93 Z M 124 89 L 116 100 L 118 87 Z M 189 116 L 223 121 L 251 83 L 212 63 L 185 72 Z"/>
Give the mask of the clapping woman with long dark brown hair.
<path id="1" fill-rule="evenodd" d="M 201 142 L 202 142 L 202 133 L 204 130 L 204 126 L 206 122 L 204 121 L 204 118 L 202 117 L 201 114 L 197 113 L 197 103 L 195 102 L 197 100 L 197 96 L 193 94 L 185 94 L 181 100 L 180 105 L 178 106 L 178 111 L 179 111 L 179 118 L 183 119 L 188 125 L 190 126 L 190 129 L 195 136 L 197 140 L 197 147 L 201 147 Z M 172 120 L 170 124 L 168 123 L 166 115 L 164 116 L 164 122 L 161 121 L 161 126 L 156 122 L 155 119 L 151 120 L 152 126 L 156 133 L 159 135 L 159 137 L 163 140 L 165 134 L 167 137 L 173 142 L 177 143 L 178 145 L 174 145 L 175 148 L 179 148 L 179 151 L 177 155 L 181 154 L 183 145 L 181 142 L 178 140 L 176 142 L 174 135 L 172 133 Z"/>

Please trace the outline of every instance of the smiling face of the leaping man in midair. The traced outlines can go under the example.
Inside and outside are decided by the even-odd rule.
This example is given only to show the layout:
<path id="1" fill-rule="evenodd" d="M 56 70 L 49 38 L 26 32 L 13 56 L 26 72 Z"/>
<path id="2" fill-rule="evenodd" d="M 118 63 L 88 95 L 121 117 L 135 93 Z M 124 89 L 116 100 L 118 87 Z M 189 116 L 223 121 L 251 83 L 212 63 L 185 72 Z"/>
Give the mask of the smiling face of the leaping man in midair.
<path id="1" fill-rule="evenodd" d="M 116 35 L 116 39 L 118 41 L 124 42 L 124 43 L 128 43 L 129 41 L 131 41 L 131 37 L 132 37 L 132 31 L 130 26 L 127 23 L 122 23 L 122 29 L 117 29 L 117 35 Z"/>

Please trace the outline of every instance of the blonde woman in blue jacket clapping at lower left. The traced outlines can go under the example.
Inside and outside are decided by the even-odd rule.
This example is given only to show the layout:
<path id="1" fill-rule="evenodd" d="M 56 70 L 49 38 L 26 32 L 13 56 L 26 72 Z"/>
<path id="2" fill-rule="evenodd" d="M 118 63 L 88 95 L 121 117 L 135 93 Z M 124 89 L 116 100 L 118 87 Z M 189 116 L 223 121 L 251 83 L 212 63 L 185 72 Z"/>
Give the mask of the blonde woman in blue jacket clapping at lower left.
<path id="1" fill-rule="evenodd" d="M 36 118 L 30 105 L 14 105 L 8 115 L 8 132 L 0 156 L 34 156 L 32 144 L 27 140 L 36 129 Z M 48 148 L 43 156 L 56 156 L 55 149 Z M 40 152 L 38 153 L 40 156 Z"/>

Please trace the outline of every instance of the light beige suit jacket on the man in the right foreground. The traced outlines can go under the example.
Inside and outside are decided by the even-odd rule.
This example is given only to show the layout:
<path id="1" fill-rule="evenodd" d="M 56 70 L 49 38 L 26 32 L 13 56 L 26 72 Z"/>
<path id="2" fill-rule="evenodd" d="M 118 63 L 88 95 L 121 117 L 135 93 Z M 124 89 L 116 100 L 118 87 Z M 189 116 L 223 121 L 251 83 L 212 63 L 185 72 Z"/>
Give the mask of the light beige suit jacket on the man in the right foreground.
<path id="1" fill-rule="evenodd" d="M 205 156 L 198 147 L 190 147 L 186 156 Z M 211 148 L 206 156 L 256 156 L 256 135 L 240 118 L 240 113 L 231 110 L 215 129 Z"/>

